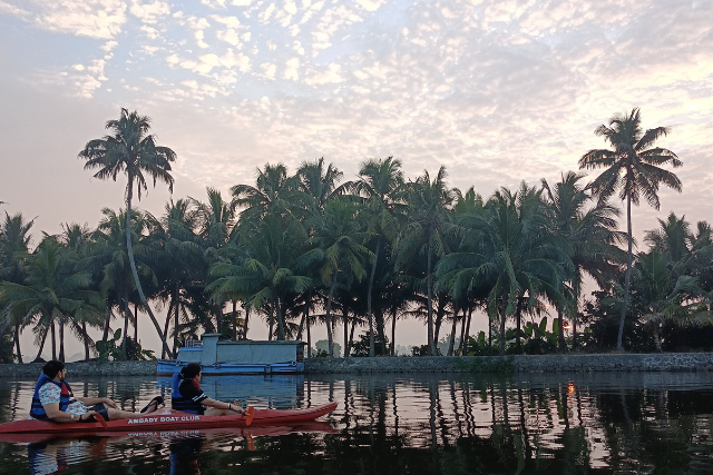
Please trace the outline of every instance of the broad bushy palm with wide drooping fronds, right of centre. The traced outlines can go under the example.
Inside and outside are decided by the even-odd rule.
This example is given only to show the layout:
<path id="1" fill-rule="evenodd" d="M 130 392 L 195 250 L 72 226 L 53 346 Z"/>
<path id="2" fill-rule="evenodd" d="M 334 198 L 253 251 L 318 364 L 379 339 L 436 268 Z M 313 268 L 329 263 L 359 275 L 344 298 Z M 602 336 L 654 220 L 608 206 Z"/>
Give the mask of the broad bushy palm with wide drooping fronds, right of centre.
<path id="1" fill-rule="evenodd" d="M 533 201 L 534 190 L 525 184 L 515 194 L 496 192 L 485 212 L 461 217 L 463 241 L 458 253 L 439 263 L 439 274 L 456 301 L 469 294 L 487 294 L 488 311 L 500 323 L 500 356 L 505 355 L 505 324 L 517 315 L 518 303 L 527 297 L 531 308 L 547 296 L 559 304 L 561 283 L 570 268 L 568 256 L 547 228 L 543 207 Z"/>

